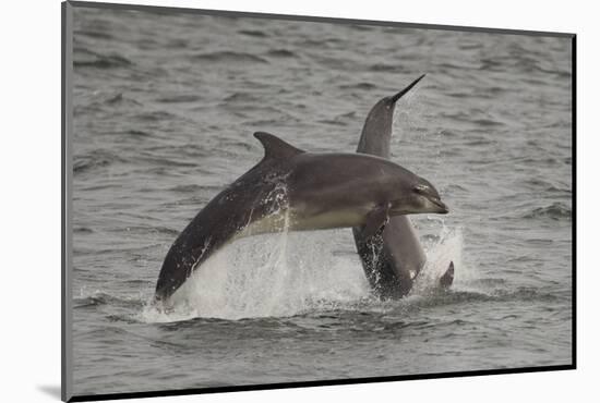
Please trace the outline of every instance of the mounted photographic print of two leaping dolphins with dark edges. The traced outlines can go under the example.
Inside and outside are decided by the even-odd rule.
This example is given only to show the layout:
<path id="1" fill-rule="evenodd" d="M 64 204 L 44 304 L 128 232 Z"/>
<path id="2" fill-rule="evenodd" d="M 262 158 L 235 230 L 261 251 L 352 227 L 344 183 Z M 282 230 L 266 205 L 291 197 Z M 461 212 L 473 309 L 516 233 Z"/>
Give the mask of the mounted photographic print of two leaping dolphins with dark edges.
<path id="1" fill-rule="evenodd" d="M 575 368 L 575 35 L 62 5 L 63 400 Z"/>

